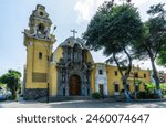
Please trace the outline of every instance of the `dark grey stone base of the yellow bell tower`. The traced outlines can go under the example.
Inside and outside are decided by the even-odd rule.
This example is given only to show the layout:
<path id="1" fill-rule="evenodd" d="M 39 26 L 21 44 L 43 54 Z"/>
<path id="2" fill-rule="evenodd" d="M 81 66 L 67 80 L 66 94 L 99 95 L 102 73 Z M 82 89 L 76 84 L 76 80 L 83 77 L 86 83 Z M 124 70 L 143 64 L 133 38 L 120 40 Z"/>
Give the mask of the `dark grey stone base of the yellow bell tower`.
<path id="1" fill-rule="evenodd" d="M 23 99 L 35 100 L 41 97 L 45 97 L 48 93 L 46 88 L 25 88 Z"/>

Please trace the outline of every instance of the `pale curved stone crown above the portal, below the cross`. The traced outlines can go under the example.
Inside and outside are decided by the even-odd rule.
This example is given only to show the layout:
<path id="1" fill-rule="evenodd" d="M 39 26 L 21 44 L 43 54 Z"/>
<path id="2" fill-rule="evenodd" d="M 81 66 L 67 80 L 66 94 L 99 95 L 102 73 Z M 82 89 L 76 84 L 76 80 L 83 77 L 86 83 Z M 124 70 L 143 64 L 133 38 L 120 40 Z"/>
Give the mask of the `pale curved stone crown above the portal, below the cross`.
<path id="1" fill-rule="evenodd" d="M 74 45 L 77 44 L 80 45 L 80 47 L 82 50 L 87 50 L 87 47 L 84 45 L 84 42 L 82 39 L 80 38 L 68 38 L 64 42 L 62 42 L 62 44 L 60 46 L 70 46 L 70 47 L 74 47 Z"/>

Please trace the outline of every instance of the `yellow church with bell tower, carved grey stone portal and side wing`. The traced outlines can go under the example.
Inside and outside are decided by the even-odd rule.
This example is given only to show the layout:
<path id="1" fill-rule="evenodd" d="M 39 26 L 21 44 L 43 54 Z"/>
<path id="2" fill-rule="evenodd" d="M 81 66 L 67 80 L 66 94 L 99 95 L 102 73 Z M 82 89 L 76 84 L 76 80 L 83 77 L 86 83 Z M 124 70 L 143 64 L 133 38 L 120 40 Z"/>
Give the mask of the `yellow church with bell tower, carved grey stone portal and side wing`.
<path id="1" fill-rule="evenodd" d="M 29 18 L 29 29 L 24 30 L 27 64 L 24 66 L 24 99 L 58 96 L 92 96 L 98 92 L 104 96 L 120 95 L 123 89 L 121 74 L 116 66 L 94 63 L 93 56 L 80 38 L 70 36 L 53 51 L 56 42 L 51 34 L 52 21 L 45 7 L 38 4 Z M 75 31 L 73 31 L 74 33 Z M 133 75 L 142 84 L 151 82 L 151 72 L 133 67 L 128 88 L 135 91 Z"/>

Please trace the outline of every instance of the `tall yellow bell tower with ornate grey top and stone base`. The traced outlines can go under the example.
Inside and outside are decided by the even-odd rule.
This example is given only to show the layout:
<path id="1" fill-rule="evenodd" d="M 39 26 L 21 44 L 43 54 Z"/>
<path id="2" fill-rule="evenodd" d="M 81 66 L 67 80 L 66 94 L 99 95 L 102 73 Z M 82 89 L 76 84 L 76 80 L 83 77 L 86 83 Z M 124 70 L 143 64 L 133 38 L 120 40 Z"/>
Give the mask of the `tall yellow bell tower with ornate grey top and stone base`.
<path id="1" fill-rule="evenodd" d="M 38 4 L 29 18 L 29 29 L 23 32 L 27 47 L 24 99 L 46 96 L 50 60 L 55 42 L 55 36 L 50 33 L 51 25 L 45 7 Z"/>

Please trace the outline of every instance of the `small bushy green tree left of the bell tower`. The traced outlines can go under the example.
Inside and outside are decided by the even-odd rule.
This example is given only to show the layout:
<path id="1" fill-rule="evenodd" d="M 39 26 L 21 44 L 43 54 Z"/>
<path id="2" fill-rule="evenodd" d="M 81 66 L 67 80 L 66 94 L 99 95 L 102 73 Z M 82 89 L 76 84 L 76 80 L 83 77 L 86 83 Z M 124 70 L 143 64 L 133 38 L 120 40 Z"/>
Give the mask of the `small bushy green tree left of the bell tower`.
<path id="1" fill-rule="evenodd" d="M 21 73 L 18 71 L 9 70 L 7 74 L 0 77 L 0 82 L 7 84 L 7 87 L 11 91 L 13 99 L 17 96 L 17 89 L 20 87 Z"/>

